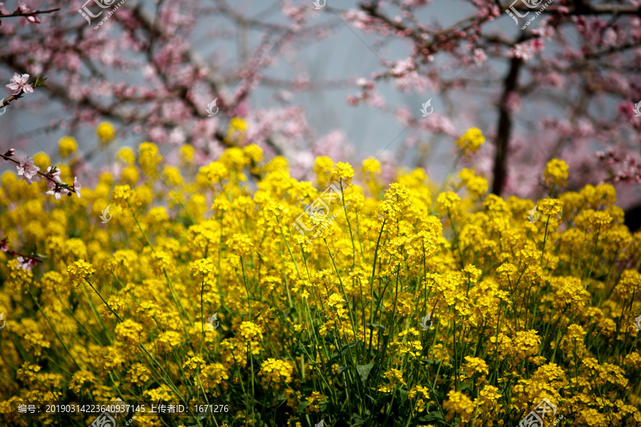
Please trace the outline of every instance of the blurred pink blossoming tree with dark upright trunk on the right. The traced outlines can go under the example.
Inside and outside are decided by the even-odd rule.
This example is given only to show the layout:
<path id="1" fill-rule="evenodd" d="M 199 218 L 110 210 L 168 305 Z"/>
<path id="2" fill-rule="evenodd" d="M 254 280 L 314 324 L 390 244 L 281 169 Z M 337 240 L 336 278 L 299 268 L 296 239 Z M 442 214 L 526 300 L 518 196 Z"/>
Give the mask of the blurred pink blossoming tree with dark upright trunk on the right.
<path id="1" fill-rule="evenodd" d="M 400 152 L 428 152 L 432 142 L 426 139 L 451 140 L 484 122 L 481 130 L 494 144 L 462 164 L 494 178 L 495 194 L 541 196 L 545 188 L 538 174 L 553 157 L 570 164 L 570 187 L 637 182 L 639 162 L 625 152 L 641 141 L 641 118 L 633 110 L 641 101 L 638 6 L 555 2 L 534 26 L 520 31 L 534 13 L 523 4 L 516 7 L 529 16 L 514 28 L 514 21 L 489 1 L 474 1 L 476 11 L 469 14 L 453 11 L 451 26 L 419 18 L 429 16 L 419 9 L 431 8 L 430 3 L 363 1 L 358 10 L 342 15 L 353 28 L 379 36 L 368 46 L 387 45 L 392 38 L 409 46 L 395 51 L 405 58 L 382 60 L 380 72 L 360 80 L 368 82 L 360 85 L 360 95 L 348 96 L 350 105 L 387 105 L 382 97 L 372 97 L 369 82 L 392 80 L 397 90 L 421 98 L 395 112 L 407 126 Z M 447 102 L 447 110 L 434 108 L 429 118 L 417 119 L 419 102 L 436 95 Z M 604 145 L 621 154 L 600 154 L 604 162 L 595 162 L 594 147 Z M 424 156 L 414 158 L 416 166 L 429 167 L 421 162 Z M 633 191 L 629 186 L 617 191 L 627 206 L 641 203 L 638 194 L 634 201 L 626 199 Z"/>

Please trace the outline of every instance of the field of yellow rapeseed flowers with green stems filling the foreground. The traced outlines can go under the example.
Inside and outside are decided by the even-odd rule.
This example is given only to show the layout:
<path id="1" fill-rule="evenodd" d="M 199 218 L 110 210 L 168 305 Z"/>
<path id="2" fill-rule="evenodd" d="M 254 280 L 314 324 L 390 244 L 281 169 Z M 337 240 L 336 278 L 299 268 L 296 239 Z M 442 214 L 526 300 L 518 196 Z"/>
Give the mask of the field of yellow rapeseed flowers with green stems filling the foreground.
<path id="1" fill-rule="evenodd" d="M 355 176 L 318 157 L 298 181 L 256 146 L 199 170 L 189 146 L 178 165 L 148 142 L 117 158 L 64 204 L 0 177 L 2 238 L 42 261 L 0 252 L 2 426 L 25 425 L 18 401 L 120 396 L 229 404 L 221 426 L 505 426 L 548 399 L 562 426 L 641 427 L 641 233 L 613 186 L 559 192 L 561 161 L 528 200 L 470 169 L 452 191 L 422 169 L 384 186 L 373 159 Z M 329 184 L 345 209 L 326 226 L 303 213 Z M 165 423 L 184 418 L 132 425 Z"/>

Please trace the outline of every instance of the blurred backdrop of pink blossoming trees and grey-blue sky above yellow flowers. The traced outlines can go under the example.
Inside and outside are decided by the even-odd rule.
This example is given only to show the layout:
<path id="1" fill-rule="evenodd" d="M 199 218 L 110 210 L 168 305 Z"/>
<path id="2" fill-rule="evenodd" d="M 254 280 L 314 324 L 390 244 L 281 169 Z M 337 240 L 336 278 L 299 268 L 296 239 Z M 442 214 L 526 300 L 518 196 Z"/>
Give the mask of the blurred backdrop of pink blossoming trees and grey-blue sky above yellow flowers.
<path id="1" fill-rule="evenodd" d="M 57 8 L 31 21 L 25 12 Z M 556 157 L 570 165 L 570 190 L 615 185 L 636 228 L 639 8 L 573 0 L 8 1 L 3 16 L 25 16 L 0 21 L 3 87 L 14 73 L 48 80 L 6 107 L 0 149 L 45 152 L 88 185 L 100 172 L 118 175 L 119 147 L 148 141 L 167 164 L 179 163 L 184 145 L 196 149 L 199 167 L 228 147 L 258 144 L 266 159 L 286 157 L 296 179 L 314 181 L 320 155 L 350 162 L 357 174 L 372 157 L 386 182 L 399 167 L 422 167 L 440 186 L 458 154 L 454 142 L 478 127 L 486 144 L 457 167 L 484 176 L 489 191 L 546 196 L 543 169 Z M 208 117 L 214 100 L 219 112 Z M 434 110 L 423 117 L 428 100 Z M 113 139 L 96 135 L 101 122 L 113 125 Z M 63 158 L 67 136 L 78 149 Z M 3 163 L 0 170 L 12 168 Z"/>

